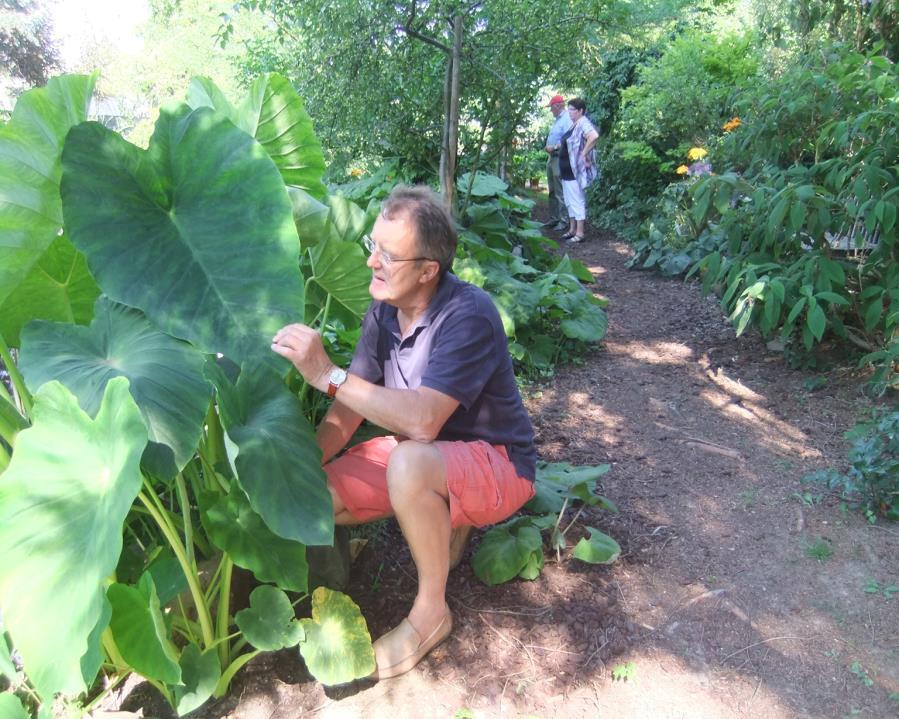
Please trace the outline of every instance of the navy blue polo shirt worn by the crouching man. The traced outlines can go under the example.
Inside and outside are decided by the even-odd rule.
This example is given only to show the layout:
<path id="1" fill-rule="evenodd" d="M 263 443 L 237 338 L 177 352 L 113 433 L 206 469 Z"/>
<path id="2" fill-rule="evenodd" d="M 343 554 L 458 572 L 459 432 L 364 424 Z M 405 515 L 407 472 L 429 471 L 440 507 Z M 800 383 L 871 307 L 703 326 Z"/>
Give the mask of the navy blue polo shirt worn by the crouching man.
<path id="1" fill-rule="evenodd" d="M 479 287 L 445 274 L 405 339 L 397 308 L 372 302 L 349 371 L 385 387 L 430 387 L 458 400 L 437 439 L 504 445 L 519 476 L 534 481 L 534 429 L 499 313 Z"/>

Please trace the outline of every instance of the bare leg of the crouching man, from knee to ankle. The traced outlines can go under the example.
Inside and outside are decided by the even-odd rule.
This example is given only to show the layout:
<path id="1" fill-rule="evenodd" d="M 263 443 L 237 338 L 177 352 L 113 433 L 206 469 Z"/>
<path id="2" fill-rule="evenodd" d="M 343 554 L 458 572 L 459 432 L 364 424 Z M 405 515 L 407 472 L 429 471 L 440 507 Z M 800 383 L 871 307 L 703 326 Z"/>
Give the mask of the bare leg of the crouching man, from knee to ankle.
<path id="1" fill-rule="evenodd" d="M 387 463 L 390 503 L 418 570 L 409 621 L 427 637 L 446 616 L 450 513 L 443 455 L 433 444 L 401 442 Z"/>

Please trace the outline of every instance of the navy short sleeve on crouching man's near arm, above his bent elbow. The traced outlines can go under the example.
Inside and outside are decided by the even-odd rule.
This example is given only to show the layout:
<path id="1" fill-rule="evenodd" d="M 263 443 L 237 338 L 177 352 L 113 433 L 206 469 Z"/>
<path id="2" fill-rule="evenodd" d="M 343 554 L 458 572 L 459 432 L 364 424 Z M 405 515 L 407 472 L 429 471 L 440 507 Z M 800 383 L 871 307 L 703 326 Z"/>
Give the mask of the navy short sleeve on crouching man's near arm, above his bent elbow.
<path id="1" fill-rule="evenodd" d="M 421 385 L 449 395 L 468 410 L 496 371 L 501 354 L 496 349 L 496 327 L 488 317 L 460 314 L 441 327 Z"/>

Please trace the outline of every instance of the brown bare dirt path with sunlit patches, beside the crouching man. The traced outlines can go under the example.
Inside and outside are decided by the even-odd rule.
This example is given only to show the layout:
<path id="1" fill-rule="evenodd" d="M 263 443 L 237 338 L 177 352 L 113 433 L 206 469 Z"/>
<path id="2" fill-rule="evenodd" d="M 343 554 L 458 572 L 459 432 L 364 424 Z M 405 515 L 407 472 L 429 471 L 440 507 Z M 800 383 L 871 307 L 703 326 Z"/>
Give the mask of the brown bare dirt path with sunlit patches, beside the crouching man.
<path id="1" fill-rule="evenodd" d="M 899 716 L 899 594 L 865 591 L 899 586 L 899 526 L 798 496 L 804 474 L 845 464 L 843 432 L 870 404 L 858 378 L 834 369 L 811 391 L 812 374 L 735 337 L 697 287 L 625 269 L 614 236 L 566 249 L 611 300 L 609 332 L 527 403 L 544 459 L 612 465 L 602 490 L 620 512 L 579 524 L 617 538 L 621 559 L 548 556 L 536 581 L 499 587 L 465 561 L 449 580 L 455 630 L 409 674 L 325 689 L 285 651 L 199 716 Z M 349 589 L 374 637 L 408 611 L 414 575 L 384 525 Z M 170 716 L 146 686 L 120 699 Z"/>

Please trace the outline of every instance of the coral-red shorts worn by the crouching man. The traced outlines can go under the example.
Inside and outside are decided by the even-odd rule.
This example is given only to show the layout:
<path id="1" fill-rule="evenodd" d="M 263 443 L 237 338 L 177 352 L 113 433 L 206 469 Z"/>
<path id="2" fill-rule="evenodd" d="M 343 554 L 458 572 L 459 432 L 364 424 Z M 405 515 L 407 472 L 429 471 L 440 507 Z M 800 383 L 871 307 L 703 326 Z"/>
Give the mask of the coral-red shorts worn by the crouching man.
<path id="1" fill-rule="evenodd" d="M 393 436 L 375 437 L 325 465 L 328 482 L 360 522 L 393 514 L 387 460 L 397 444 Z M 505 447 L 480 440 L 434 446 L 443 455 L 453 527 L 496 524 L 534 496 L 534 483 L 518 476 Z"/>

